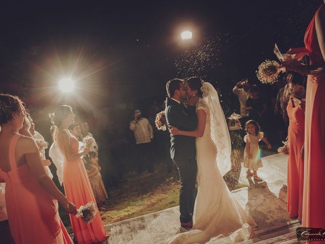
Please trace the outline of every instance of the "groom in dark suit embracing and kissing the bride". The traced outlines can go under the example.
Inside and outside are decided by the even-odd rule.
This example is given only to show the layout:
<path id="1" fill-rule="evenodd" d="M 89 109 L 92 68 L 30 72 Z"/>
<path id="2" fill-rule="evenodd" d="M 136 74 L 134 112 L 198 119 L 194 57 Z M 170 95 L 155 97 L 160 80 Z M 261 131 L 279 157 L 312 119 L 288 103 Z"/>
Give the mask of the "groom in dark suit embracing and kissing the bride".
<path id="1" fill-rule="evenodd" d="M 199 100 L 198 96 L 191 97 L 187 101 L 185 84 L 181 79 L 168 81 L 166 90 L 168 94 L 165 109 L 167 124 L 182 131 L 196 130 L 198 118 L 194 105 Z M 188 102 L 187 108 L 183 104 L 186 101 Z M 197 178 L 195 137 L 171 135 L 171 158 L 176 164 L 181 178 L 179 192 L 181 226 L 185 229 L 191 229 L 194 201 L 197 196 L 195 186 Z"/>

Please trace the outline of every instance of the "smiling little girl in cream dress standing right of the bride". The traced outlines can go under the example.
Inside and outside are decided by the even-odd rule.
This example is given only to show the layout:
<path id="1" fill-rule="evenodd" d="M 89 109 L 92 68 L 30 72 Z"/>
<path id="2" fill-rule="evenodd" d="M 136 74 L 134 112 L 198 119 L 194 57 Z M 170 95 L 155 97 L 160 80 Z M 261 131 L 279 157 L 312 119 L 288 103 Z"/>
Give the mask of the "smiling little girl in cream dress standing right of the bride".
<path id="1" fill-rule="evenodd" d="M 255 120 L 248 120 L 246 122 L 247 135 L 244 137 L 246 143 L 244 150 L 244 167 L 248 168 L 246 174 L 253 175 L 256 181 L 262 181 L 262 179 L 257 176 L 257 169 L 263 167 L 261 155 L 259 154 L 258 142 L 263 140 L 267 144 L 268 149 L 271 149 L 271 144 L 263 137 L 264 133 L 259 130 L 259 125 Z M 251 170 L 253 170 L 253 173 Z"/>

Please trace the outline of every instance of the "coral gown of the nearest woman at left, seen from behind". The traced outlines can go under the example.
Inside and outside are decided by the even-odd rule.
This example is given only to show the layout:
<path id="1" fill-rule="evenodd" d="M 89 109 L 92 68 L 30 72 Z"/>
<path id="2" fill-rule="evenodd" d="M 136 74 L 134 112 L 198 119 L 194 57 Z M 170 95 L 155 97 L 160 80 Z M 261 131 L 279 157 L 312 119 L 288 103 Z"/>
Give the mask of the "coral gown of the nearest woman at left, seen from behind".
<path id="1" fill-rule="evenodd" d="M 27 163 L 16 165 L 15 148 L 20 136 L 14 135 L 10 142 L 11 170 L 0 169 L 6 181 L 7 214 L 13 239 L 16 244 L 73 244 L 59 217 L 57 200 L 43 190 Z"/>

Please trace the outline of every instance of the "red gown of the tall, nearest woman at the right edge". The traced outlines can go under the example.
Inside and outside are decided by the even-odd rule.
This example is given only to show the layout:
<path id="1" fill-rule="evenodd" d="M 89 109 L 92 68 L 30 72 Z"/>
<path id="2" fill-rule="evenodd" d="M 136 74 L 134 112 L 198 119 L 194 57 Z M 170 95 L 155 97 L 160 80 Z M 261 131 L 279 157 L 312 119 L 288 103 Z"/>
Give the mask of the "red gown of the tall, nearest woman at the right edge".
<path id="1" fill-rule="evenodd" d="M 325 6 L 322 5 L 320 8 L 322 7 Z M 305 46 L 309 52 L 310 63 L 325 66 L 316 36 L 315 16 L 306 31 Z M 325 184 L 324 104 L 325 77 L 309 75 L 306 92 L 303 227 L 325 227 L 325 194 L 322 192 Z M 315 243 L 323 242 L 315 241 Z"/>

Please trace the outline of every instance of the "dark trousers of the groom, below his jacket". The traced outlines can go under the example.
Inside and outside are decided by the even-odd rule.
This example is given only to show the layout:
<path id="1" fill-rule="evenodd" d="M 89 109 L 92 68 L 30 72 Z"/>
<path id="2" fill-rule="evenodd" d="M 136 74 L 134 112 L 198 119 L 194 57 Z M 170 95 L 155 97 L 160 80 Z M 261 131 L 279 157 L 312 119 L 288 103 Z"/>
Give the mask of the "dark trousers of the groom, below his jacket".
<path id="1" fill-rule="evenodd" d="M 192 220 L 194 202 L 197 197 L 197 161 L 195 158 L 186 160 L 173 160 L 181 178 L 179 192 L 180 222 L 187 223 Z"/>

